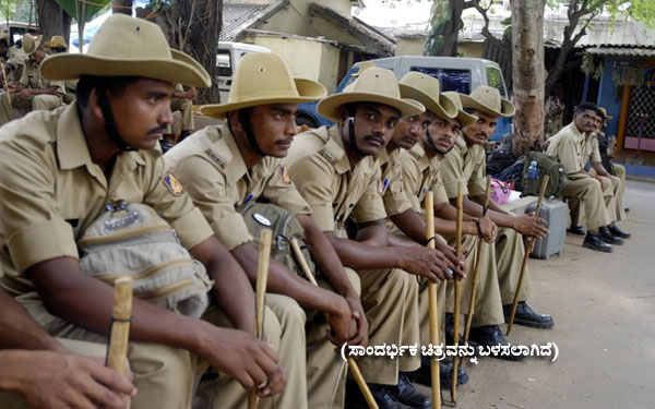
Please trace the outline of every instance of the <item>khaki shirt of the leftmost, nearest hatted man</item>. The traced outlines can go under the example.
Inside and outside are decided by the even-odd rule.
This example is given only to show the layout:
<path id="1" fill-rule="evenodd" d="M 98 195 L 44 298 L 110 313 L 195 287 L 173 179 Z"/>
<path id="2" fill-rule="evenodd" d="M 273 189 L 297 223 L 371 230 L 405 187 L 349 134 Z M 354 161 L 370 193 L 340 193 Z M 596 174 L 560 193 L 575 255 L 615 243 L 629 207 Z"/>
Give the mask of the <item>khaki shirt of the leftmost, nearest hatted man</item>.
<path id="1" fill-rule="evenodd" d="M 210 238 L 210 226 L 160 155 L 123 152 L 107 179 L 91 160 L 75 106 L 31 112 L 0 128 L 3 285 L 28 292 L 25 269 L 50 258 L 78 258 L 76 240 L 111 200 L 153 207 L 187 249 Z"/>

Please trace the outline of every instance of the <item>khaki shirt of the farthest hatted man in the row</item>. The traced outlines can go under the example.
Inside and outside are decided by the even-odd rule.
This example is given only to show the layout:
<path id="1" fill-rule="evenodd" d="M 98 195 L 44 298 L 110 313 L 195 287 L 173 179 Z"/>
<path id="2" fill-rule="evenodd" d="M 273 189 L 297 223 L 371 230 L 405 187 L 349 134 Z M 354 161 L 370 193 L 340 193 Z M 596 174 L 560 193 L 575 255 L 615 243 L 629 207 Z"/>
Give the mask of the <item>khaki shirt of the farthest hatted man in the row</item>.
<path id="1" fill-rule="evenodd" d="M 485 168 L 483 145 L 467 147 L 464 135 L 460 135 L 451 152 L 441 159 L 441 179 L 448 197 L 457 197 L 460 182 L 463 183 L 463 195 L 484 195 L 487 187 Z"/>

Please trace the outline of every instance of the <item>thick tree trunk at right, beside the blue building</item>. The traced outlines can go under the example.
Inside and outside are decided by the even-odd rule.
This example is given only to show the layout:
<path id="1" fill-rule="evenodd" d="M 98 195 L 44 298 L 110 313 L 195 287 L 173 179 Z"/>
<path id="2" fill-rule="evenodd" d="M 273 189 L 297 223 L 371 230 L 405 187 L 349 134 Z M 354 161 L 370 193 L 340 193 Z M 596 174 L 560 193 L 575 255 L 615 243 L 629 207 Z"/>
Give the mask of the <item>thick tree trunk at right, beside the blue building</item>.
<path id="1" fill-rule="evenodd" d="M 544 11 L 546 0 L 511 0 L 515 156 L 537 148 L 544 137 Z"/>

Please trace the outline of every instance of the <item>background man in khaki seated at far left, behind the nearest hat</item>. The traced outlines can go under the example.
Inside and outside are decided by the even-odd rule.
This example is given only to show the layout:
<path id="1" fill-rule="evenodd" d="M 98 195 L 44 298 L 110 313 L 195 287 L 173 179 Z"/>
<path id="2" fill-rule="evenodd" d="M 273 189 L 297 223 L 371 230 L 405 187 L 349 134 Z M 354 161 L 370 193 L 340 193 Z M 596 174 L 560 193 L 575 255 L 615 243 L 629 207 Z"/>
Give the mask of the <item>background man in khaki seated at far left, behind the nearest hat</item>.
<path id="1" fill-rule="evenodd" d="M 0 94 L 0 125 L 11 120 L 13 108 L 50 110 L 61 106 L 61 97 L 66 94 L 63 81 L 49 81 L 40 73 L 40 64 L 46 58 L 41 47 L 41 36 L 25 34 L 23 50 L 28 60 L 23 68 L 19 85 L 8 85 L 11 92 L 11 108 L 7 93 Z"/>

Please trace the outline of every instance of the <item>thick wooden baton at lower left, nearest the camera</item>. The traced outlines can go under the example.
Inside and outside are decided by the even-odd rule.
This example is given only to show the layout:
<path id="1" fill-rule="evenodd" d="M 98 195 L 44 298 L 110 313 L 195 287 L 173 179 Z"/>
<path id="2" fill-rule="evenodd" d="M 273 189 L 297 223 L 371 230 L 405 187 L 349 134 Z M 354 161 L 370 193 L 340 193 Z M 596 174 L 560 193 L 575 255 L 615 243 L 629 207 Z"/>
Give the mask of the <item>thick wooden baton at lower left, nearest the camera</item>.
<path id="1" fill-rule="evenodd" d="M 131 277 L 120 277 L 114 281 L 114 310 L 111 312 L 107 366 L 121 375 L 126 373 L 128 358 L 133 284 Z"/>

